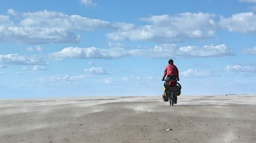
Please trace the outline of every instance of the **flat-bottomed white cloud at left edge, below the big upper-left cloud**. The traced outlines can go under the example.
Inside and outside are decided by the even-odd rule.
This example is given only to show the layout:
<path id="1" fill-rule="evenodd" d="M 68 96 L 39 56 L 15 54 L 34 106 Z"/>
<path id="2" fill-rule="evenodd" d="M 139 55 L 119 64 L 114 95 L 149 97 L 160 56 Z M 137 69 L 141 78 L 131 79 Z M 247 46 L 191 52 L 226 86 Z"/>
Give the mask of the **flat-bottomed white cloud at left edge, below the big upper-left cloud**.
<path id="1" fill-rule="evenodd" d="M 27 57 L 24 55 L 16 54 L 0 54 L 0 65 L 47 65 L 49 64 L 45 60 L 31 56 Z"/>

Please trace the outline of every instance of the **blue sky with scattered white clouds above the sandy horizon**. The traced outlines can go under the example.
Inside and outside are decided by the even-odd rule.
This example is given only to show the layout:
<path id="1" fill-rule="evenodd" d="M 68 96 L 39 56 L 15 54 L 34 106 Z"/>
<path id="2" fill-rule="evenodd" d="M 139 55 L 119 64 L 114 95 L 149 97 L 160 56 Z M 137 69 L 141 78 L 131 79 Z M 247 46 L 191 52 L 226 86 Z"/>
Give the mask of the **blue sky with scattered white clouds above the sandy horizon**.
<path id="1" fill-rule="evenodd" d="M 0 2 L 0 98 L 256 93 L 256 1 Z"/>

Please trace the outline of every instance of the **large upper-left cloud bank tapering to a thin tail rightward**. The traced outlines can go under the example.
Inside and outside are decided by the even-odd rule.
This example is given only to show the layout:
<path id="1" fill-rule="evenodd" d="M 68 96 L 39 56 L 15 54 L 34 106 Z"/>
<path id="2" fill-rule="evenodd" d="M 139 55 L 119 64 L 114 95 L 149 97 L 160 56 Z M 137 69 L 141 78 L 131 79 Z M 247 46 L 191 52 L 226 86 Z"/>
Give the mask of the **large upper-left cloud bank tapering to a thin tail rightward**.
<path id="1" fill-rule="evenodd" d="M 112 25 L 108 21 L 47 10 L 19 14 L 9 9 L 8 14 L 19 17 L 19 21 L 14 23 L 9 16 L 0 15 L 0 42 L 79 43 L 81 38 L 76 31 L 88 32 L 101 27 L 118 29 L 125 24 Z"/>

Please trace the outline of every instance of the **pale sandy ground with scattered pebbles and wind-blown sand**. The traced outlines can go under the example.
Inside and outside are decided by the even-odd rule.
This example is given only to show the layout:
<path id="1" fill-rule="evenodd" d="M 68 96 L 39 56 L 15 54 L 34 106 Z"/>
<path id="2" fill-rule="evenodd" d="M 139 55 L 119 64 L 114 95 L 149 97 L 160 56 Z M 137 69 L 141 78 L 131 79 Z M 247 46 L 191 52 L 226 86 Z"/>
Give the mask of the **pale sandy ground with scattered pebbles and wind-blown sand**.
<path id="1" fill-rule="evenodd" d="M 0 100 L 0 142 L 256 142 L 256 95 Z"/>

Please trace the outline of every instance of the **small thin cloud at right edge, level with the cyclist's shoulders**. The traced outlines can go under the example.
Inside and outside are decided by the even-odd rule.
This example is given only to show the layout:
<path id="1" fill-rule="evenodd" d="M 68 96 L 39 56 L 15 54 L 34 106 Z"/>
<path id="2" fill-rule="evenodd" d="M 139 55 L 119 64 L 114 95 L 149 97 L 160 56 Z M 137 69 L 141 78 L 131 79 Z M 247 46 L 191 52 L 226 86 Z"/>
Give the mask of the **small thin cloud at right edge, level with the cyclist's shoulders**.
<path id="1" fill-rule="evenodd" d="M 226 71 L 228 72 L 256 72 L 256 68 L 252 66 L 243 66 L 243 65 L 233 65 L 226 66 Z"/>

